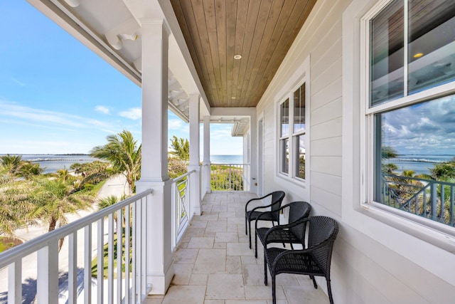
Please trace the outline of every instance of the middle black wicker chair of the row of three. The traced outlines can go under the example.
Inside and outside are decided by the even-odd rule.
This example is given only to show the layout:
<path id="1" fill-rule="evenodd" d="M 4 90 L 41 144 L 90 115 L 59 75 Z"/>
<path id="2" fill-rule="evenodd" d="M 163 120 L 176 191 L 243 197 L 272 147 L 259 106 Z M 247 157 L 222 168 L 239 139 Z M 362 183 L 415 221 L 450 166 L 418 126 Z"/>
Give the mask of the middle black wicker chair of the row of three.
<path id="1" fill-rule="evenodd" d="M 282 206 L 278 211 L 283 209 L 289 208 L 289 224 L 294 223 L 295 221 L 299 221 L 300 219 L 304 219 L 309 216 L 311 211 L 311 206 L 306 201 L 292 201 L 289 204 Z M 265 247 L 265 236 L 267 234 L 267 241 L 269 243 L 285 243 L 291 244 L 291 249 L 294 249 L 292 246 L 293 243 L 304 243 L 304 234 L 301 234 L 299 231 L 298 226 L 289 226 L 289 225 L 279 225 L 274 226 L 272 228 L 268 227 L 258 227 L 257 223 L 259 220 L 267 214 L 264 212 L 257 216 L 256 224 L 255 224 L 255 231 L 256 231 L 256 239 L 255 239 L 255 257 L 257 258 L 257 238 L 261 241 L 262 245 Z M 269 231 L 270 230 L 270 231 Z"/>

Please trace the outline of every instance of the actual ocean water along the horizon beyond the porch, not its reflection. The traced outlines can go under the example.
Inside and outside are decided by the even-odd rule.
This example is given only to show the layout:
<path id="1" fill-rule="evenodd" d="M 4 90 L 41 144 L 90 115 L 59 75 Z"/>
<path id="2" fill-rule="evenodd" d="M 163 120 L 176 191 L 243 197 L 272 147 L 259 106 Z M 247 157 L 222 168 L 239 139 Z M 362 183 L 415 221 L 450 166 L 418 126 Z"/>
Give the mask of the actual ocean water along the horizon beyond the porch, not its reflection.
<path id="1" fill-rule="evenodd" d="M 59 169 L 70 170 L 71 165 L 76 162 L 82 164 L 96 160 L 87 154 L 21 154 L 21 156 L 24 160 L 38 162 L 44 168 L 43 173 L 52 173 Z M 201 161 L 202 159 L 203 157 L 200 157 Z M 210 155 L 210 162 L 213 164 L 242 164 L 243 157 L 242 155 Z"/>

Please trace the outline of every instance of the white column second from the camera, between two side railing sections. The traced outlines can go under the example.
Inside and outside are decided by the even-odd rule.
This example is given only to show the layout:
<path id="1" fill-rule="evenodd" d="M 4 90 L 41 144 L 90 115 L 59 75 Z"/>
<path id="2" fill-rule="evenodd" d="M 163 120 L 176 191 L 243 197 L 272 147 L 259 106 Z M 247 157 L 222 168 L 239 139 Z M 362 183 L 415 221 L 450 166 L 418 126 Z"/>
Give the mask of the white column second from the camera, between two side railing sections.
<path id="1" fill-rule="evenodd" d="M 191 178 L 190 216 L 200 215 L 200 157 L 199 157 L 199 94 L 190 95 L 190 165 L 188 172 L 195 170 Z"/>

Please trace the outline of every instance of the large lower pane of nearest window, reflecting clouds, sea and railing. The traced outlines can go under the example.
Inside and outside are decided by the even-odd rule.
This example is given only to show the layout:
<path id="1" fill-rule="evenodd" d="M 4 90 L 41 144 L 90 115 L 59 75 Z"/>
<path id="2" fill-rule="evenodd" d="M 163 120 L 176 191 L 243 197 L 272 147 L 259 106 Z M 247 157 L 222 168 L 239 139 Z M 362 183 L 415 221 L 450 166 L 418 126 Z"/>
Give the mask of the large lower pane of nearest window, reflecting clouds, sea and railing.
<path id="1" fill-rule="evenodd" d="M 454 226 L 455 95 L 375 115 L 375 201 Z"/>

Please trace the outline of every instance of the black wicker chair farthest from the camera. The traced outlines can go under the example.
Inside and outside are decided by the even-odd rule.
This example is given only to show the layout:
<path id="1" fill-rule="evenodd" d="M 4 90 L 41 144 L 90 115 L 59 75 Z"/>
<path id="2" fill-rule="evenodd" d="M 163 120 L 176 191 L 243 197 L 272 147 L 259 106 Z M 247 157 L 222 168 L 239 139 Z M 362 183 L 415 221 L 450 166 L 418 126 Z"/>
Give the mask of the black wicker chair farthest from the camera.
<path id="1" fill-rule="evenodd" d="M 267 212 L 266 216 L 262 216 L 261 221 L 272 221 L 272 225 L 276 221 L 279 224 L 279 211 L 277 211 L 282 206 L 282 201 L 284 199 L 284 192 L 283 191 L 275 191 L 271 192 L 265 196 L 257 197 L 255 199 L 250 199 L 245 204 L 245 234 L 250 235 L 250 248 L 251 248 L 251 221 L 255 221 L 257 216 L 261 215 L 264 212 Z M 272 201 L 270 204 L 266 206 L 258 206 L 251 210 L 248 210 L 248 204 L 252 201 L 257 201 L 259 199 L 265 199 L 269 196 L 272 196 Z M 270 207 L 270 211 L 267 208 Z M 265 209 L 263 211 L 258 211 L 259 209 Z"/>

